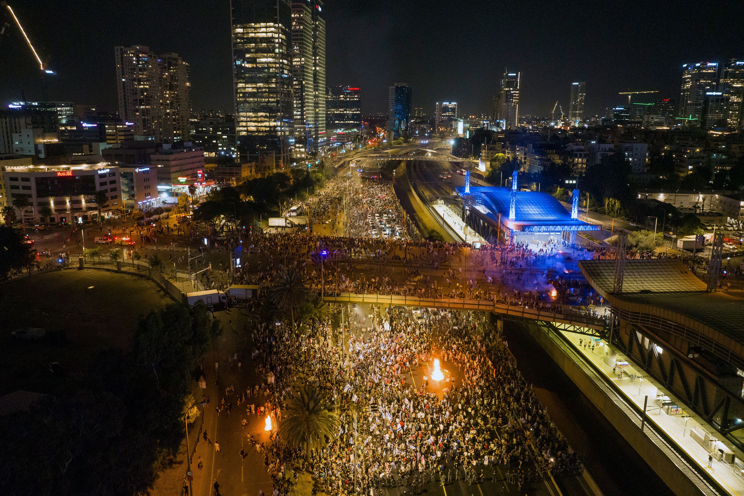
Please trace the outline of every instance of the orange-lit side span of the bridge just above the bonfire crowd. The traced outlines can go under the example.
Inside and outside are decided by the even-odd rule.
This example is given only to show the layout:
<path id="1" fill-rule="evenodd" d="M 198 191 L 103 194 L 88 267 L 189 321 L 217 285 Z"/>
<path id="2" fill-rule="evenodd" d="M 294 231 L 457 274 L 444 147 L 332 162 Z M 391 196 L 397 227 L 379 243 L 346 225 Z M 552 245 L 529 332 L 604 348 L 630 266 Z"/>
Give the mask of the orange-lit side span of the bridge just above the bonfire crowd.
<path id="1" fill-rule="evenodd" d="M 463 298 L 424 298 L 417 296 L 397 296 L 394 294 L 336 293 L 325 294 L 328 303 L 372 303 L 374 305 L 418 306 L 443 310 L 474 310 L 493 312 L 499 318 L 507 320 L 527 319 L 554 323 L 565 330 L 585 329 L 583 333 L 591 334 L 589 329 L 604 332 L 606 321 L 582 315 L 578 312 L 556 313 L 546 310 L 530 309 L 525 306 L 495 303 L 490 300 L 466 300 Z M 581 331 L 577 331 L 581 332 Z"/>

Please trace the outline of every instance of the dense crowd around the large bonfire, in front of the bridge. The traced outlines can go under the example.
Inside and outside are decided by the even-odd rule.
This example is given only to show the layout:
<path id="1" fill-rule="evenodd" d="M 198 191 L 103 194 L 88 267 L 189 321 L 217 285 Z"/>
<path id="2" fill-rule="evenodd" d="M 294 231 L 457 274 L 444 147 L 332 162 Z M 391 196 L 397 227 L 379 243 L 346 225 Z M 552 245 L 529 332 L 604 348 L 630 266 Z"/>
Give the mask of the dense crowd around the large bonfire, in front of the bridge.
<path id="1" fill-rule="evenodd" d="M 310 453 L 272 438 L 265 449 L 274 458 L 266 463 L 281 484 L 282 467 L 293 460 L 308 460 L 305 468 L 332 495 L 355 487 L 373 495 L 384 487 L 496 480 L 495 466 L 505 466 L 520 488 L 546 470 L 579 470 L 483 314 L 417 318 L 394 307 L 353 312 L 350 320 L 345 341 L 327 324 L 297 341 L 281 338 L 286 330 L 272 324 L 254 332 L 260 367 L 275 378 L 263 386 L 266 411 L 280 418 L 296 381 L 307 381 L 336 399 L 339 415 L 338 433 Z M 431 377 L 433 358 L 441 361 L 442 381 Z M 416 382 L 414 375 L 423 378 Z"/>

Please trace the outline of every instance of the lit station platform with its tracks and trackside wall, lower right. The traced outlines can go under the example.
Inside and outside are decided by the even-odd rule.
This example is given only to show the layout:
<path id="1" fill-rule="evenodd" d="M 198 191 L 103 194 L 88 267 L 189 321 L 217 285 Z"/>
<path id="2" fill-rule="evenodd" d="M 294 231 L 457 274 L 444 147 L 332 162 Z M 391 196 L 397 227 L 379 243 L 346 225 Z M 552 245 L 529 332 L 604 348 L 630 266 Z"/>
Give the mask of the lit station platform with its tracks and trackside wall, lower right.
<path id="1" fill-rule="evenodd" d="M 709 433 L 715 432 L 713 428 L 694 415 L 687 417 L 685 426 L 682 413 L 670 414 L 655 405 L 653 400 L 660 393 L 688 415 L 684 405 L 676 402 L 676 398 L 660 384 L 647 379 L 640 367 L 614 350 L 618 362 L 628 362 L 623 367 L 623 379 L 618 379 L 618 367 L 613 374 L 612 367 L 604 361 L 606 341 L 562 331 L 547 324 L 531 326 L 531 329 L 533 338 L 673 492 L 678 495 L 744 495 L 744 477 L 737 474 L 737 466 L 715 458 L 708 466 L 708 451 L 690 436 L 690 431 L 695 428 Z M 595 345 L 594 352 L 589 346 L 584 349 L 583 341 L 586 339 Z M 582 340 L 581 346 L 579 340 Z M 630 374 L 635 378 L 631 380 Z M 644 376 L 643 381 L 638 376 Z M 644 431 L 641 431 L 647 395 L 646 422 Z M 733 451 L 731 447 L 728 449 Z"/>

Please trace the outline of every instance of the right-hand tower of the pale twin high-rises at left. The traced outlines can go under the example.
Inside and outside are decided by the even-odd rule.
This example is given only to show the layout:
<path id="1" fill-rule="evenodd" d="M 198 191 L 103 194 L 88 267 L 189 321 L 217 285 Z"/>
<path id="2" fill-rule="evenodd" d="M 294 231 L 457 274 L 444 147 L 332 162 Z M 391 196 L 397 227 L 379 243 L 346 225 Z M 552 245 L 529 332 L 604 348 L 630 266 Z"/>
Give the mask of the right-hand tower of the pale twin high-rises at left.
<path id="1" fill-rule="evenodd" d="M 168 141 L 190 141 L 191 83 L 189 65 L 179 54 L 158 56 L 162 135 Z"/>

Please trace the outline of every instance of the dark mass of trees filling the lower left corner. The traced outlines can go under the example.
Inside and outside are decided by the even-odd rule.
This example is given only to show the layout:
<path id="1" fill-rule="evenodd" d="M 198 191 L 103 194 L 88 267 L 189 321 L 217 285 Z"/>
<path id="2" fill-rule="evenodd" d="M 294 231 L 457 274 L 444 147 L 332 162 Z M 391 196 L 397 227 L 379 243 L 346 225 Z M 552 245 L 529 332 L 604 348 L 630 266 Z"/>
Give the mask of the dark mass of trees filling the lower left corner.
<path id="1" fill-rule="evenodd" d="M 219 335 L 204 305 L 138 322 L 132 351 L 107 350 L 30 412 L 0 423 L 0 494 L 144 494 L 178 453 L 205 352 Z M 187 403 L 188 402 L 188 403 Z"/>

